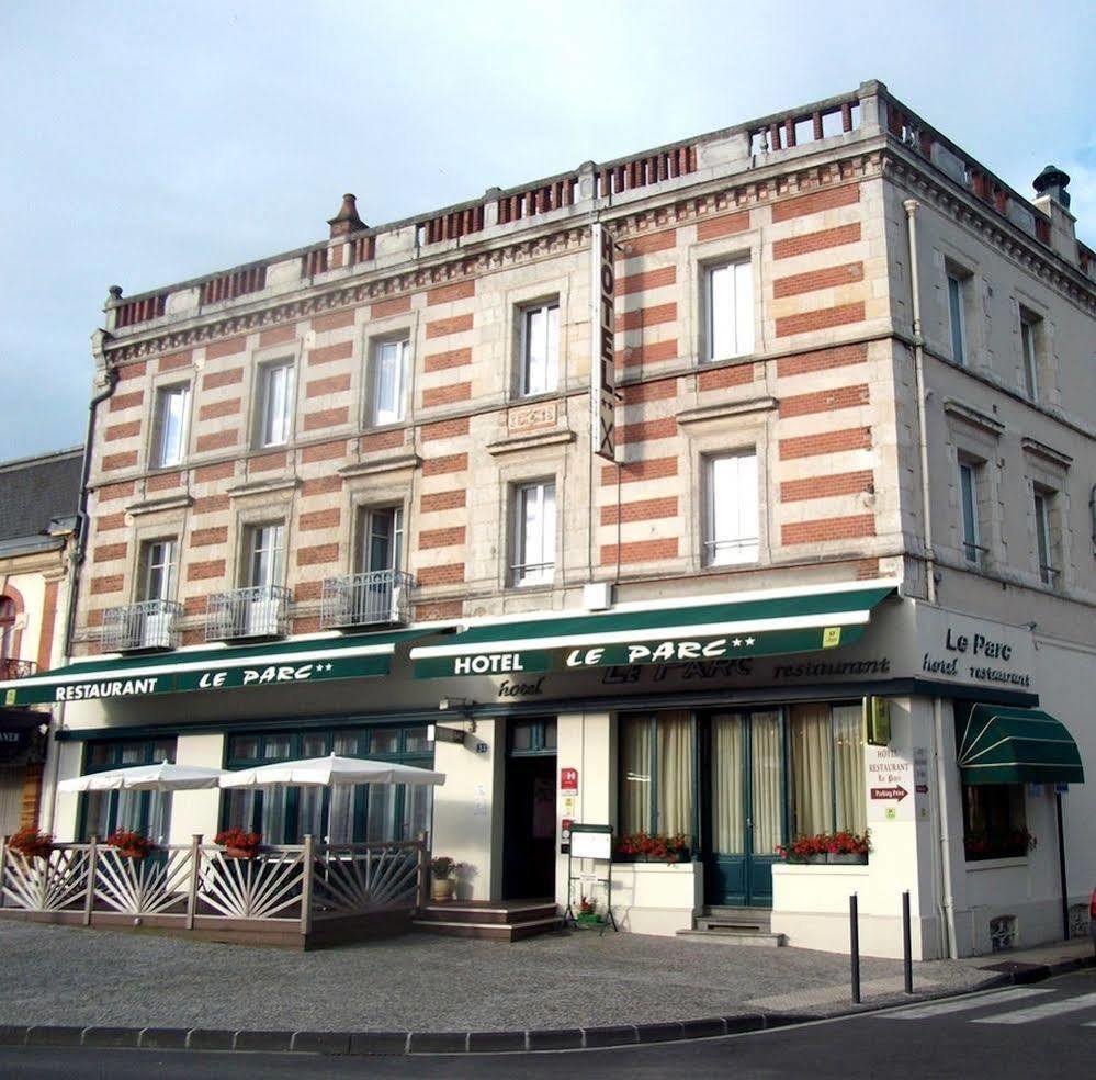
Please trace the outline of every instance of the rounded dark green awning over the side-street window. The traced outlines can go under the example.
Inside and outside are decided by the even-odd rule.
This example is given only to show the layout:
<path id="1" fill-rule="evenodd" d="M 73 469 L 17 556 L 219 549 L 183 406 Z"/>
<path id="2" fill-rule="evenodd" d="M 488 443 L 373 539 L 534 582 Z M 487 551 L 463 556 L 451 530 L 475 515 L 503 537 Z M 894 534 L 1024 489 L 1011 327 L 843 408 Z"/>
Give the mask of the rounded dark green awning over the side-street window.
<path id="1" fill-rule="evenodd" d="M 1073 735 L 1039 709 L 975 705 L 959 747 L 964 784 L 1083 784 Z"/>

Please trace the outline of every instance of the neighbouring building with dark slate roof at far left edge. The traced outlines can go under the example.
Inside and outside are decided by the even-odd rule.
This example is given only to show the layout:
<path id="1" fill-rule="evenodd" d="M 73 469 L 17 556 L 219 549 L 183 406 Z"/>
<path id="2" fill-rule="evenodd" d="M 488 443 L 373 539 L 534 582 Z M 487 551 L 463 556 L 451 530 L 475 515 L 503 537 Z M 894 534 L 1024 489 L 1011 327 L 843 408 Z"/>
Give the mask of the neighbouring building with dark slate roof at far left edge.
<path id="1" fill-rule="evenodd" d="M 0 462 L 0 680 L 65 660 L 83 450 Z M 0 694 L 0 835 L 37 825 L 49 711 Z"/>

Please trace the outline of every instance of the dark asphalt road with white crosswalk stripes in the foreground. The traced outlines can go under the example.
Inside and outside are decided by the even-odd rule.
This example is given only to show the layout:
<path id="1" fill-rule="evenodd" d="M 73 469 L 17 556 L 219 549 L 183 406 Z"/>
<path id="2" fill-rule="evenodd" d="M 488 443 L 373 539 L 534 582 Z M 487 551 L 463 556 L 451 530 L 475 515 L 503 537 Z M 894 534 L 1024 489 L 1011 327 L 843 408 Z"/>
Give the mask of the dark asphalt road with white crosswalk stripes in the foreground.
<path id="1" fill-rule="evenodd" d="M 497 1056 L 313 1057 L 151 1050 L 0 1050 L 5 1078 L 707 1077 L 1087 1078 L 1096 1072 L 1096 970 L 888 1012 L 730 1038 Z"/>

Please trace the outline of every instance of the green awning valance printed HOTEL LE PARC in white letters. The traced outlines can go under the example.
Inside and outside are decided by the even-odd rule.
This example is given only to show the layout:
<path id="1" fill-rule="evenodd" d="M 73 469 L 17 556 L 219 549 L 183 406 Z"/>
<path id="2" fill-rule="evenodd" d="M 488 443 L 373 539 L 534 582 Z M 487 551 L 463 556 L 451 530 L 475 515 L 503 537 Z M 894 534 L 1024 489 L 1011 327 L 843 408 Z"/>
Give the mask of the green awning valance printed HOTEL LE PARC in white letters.
<path id="1" fill-rule="evenodd" d="M 522 649 L 431 656 L 415 662 L 417 678 L 453 675 L 512 675 L 523 672 L 583 671 L 646 664 L 766 656 L 778 653 L 836 649 L 858 641 L 863 627 L 814 627 L 772 630 L 699 640 L 645 640 L 585 645 L 578 649 Z"/>

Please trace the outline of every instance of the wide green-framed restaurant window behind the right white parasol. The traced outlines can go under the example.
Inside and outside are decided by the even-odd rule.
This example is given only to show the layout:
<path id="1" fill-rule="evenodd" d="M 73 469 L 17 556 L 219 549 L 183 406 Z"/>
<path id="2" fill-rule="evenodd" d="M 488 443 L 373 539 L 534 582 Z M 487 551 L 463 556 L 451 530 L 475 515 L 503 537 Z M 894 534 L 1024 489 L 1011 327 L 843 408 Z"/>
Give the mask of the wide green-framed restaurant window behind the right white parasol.
<path id="1" fill-rule="evenodd" d="M 432 768 L 433 744 L 426 735 L 426 727 L 233 735 L 225 767 L 250 768 L 335 753 Z M 226 790 L 221 821 L 225 829 L 253 830 L 268 844 L 300 844 L 307 833 L 336 844 L 414 840 L 430 829 L 432 791 L 428 785 L 403 784 Z"/>

